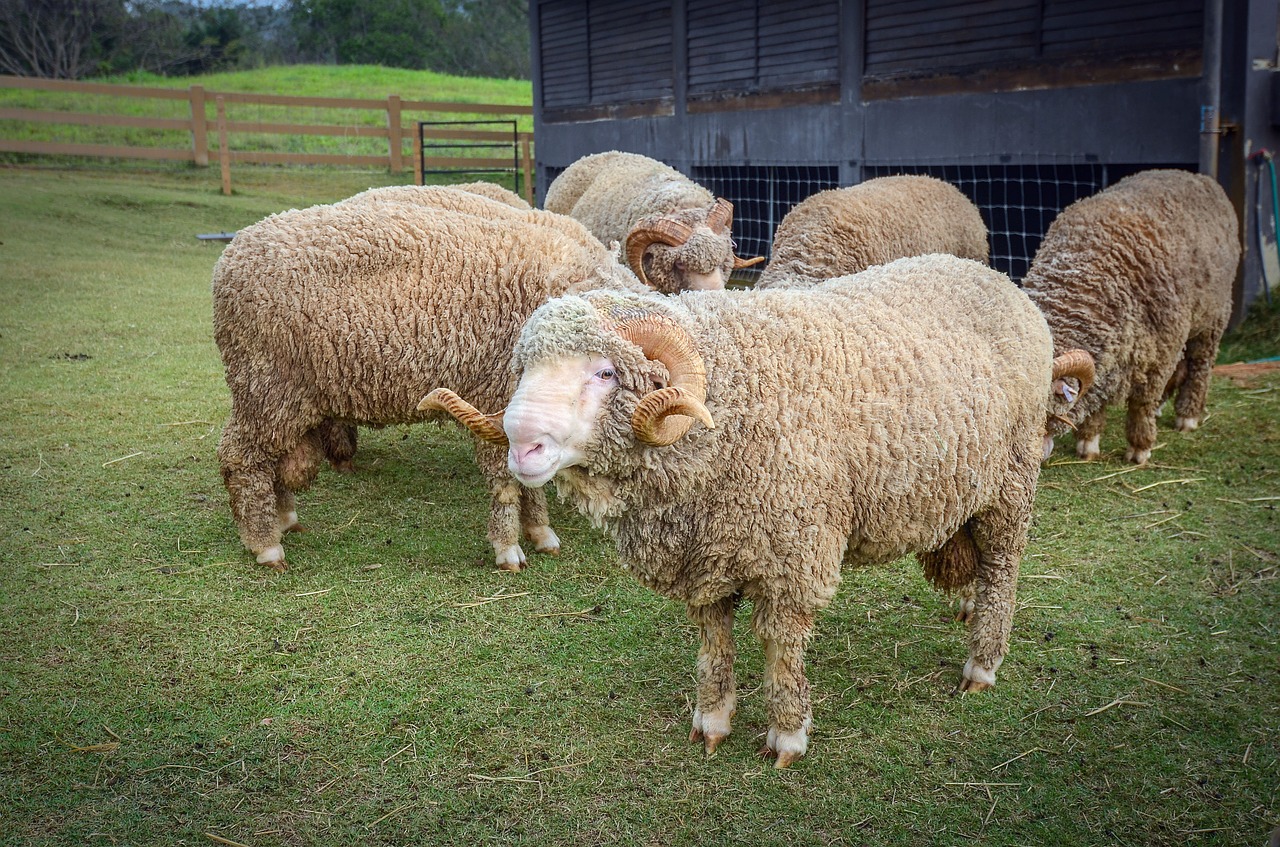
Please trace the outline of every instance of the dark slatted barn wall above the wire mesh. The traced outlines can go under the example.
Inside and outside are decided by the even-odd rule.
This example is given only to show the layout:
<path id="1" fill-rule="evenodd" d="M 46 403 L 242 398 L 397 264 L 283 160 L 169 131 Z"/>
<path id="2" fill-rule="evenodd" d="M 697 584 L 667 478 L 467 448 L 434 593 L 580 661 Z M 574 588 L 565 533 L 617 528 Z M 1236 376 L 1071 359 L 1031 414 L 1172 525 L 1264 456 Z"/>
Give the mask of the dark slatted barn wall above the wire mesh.
<path id="1" fill-rule="evenodd" d="M 1206 1 L 1212 0 L 955 0 L 943 5 L 956 14 L 938 22 L 943 13 L 922 18 L 938 8 L 923 0 L 532 0 L 539 196 L 552 175 L 603 150 L 645 154 L 704 175 L 713 166 L 758 173 L 769 165 L 815 165 L 836 174 L 837 184 L 895 165 L 1000 166 L 1036 157 L 1114 166 L 1102 184 L 1143 166 L 1194 169 L 1203 91 L 1202 52 L 1193 45 L 1203 36 Z M 1229 192 L 1235 180 L 1234 198 L 1251 214 L 1245 234 L 1252 238 L 1253 166 L 1245 157 L 1280 141 L 1267 100 L 1277 4 L 1224 1 L 1230 32 L 1222 114 L 1238 132 L 1224 137 L 1222 179 Z M 582 18 L 589 27 L 626 15 L 622 28 L 636 33 L 632 41 L 660 54 L 655 65 L 653 56 L 628 52 L 635 67 L 649 68 L 628 77 L 631 95 L 620 93 L 625 86 L 600 88 L 599 68 L 620 73 L 626 63 L 589 56 L 590 32 L 575 56 L 557 52 L 557 45 L 539 47 L 541 15 L 563 18 L 575 4 L 590 9 Z M 815 47 L 808 65 L 795 50 L 780 55 L 787 40 L 774 32 L 788 18 L 778 10 L 800 5 L 827 15 L 819 28 L 796 36 Z M 1041 10 L 1038 28 L 1029 26 L 1024 6 Z M 988 26 L 970 27 L 983 9 L 991 13 Z M 1158 23 L 1152 23 L 1153 9 L 1161 10 Z M 913 14 L 932 31 L 913 31 Z M 1132 36 L 1139 26 L 1134 19 L 1146 20 L 1149 44 Z M 669 44 L 654 42 L 654 20 L 668 28 Z M 626 41 L 617 32 L 611 45 Z M 714 49 L 716 37 L 722 41 L 712 61 L 698 50 Z M 689 44 L 698 50 L 687 50 Z M 598 91 L 577 104 L 544 100 L 539 61 L 554 65 L 557 91 L 566 84 Z M 1042 224 L 1051 216 L 1046 212 Z M 1240 307 L 1261 290 L 1252 244 L 1247 262 Z"/>

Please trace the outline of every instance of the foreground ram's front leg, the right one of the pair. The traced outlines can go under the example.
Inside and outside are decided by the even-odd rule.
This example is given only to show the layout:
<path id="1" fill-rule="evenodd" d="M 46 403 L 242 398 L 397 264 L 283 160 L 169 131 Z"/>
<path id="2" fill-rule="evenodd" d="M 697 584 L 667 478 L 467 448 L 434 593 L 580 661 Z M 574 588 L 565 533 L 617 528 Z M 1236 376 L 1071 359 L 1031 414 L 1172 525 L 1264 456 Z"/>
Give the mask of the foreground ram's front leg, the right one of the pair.
<path id="1" fill-rule="evenodd" d="M 772 608 L 756 601 L 751 627 L 764 645 L 764 700 L 769 709 L 769 733 L 760 755 L 777 756 L 776 768 L 786 768 L 805 755 L 813 728 L 809 681 L 804 676 L 804 649 L 813 631 L 813 612 Z"/>

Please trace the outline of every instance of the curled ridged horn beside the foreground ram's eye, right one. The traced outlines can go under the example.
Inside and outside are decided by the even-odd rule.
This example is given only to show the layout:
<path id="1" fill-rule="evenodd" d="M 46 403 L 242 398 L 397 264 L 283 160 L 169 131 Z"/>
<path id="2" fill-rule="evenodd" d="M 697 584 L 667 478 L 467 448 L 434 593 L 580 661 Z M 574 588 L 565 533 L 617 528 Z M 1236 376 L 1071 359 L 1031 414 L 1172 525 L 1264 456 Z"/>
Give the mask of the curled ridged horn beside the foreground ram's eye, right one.
<path id="1" fill-rule="evenodd" d="M 639 347 L 645 358 L 662 362 L 671 376 L 671 385 L 646 394 L 631 415 L 636 439 L 650 447 L 667 447 L 684 438 L 694 418 L 714 429 L 716 421 L 703 403 L 707 367 L 689 333 L 657 315 L 625 317 L 612 329 Z"/>

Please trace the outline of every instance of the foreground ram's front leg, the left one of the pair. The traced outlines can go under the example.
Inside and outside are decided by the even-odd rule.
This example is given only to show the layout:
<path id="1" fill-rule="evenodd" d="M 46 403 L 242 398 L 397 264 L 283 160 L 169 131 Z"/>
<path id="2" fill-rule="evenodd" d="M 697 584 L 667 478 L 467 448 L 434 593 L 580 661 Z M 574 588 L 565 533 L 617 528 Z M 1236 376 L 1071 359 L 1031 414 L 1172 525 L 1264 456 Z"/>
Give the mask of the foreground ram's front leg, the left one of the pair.
<path id="1" fill-rule="evenodd" d="M 698 649 L 698 706 L 690 741 L 701 741 L 707 755 L 728 738 L 730 722 L 737 708 L 733 685 L 733 613 L 736 598 L 724 598 L 707 605 L 690 605 L 689 618 L 698 624 L 703 642 Z"/>

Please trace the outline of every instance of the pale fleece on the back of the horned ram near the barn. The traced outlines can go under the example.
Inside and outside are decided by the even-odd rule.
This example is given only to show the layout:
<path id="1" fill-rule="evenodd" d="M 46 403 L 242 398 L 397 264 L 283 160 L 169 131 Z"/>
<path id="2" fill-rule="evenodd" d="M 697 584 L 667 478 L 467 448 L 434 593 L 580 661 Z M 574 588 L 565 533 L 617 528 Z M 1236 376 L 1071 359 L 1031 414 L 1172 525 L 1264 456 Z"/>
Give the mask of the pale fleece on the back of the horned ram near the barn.
<path id="1" fill-rule="evenodd" d="M 582 221 L 605 244 L 625 242 L 636 221 L 682 209 L 710 210 L 716 197 L 655 159 L 611 150 L 579 159 L 547 188 L 543 207 Z M 705 219 L 705 215 L 704 215 Z"/>

